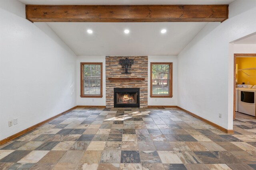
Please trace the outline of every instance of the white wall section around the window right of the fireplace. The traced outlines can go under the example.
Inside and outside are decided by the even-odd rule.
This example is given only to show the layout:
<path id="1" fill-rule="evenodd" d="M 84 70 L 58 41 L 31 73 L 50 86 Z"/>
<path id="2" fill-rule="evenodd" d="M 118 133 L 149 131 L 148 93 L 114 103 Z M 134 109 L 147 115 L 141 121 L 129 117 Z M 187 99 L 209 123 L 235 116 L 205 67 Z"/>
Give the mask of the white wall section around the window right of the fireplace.
<path id="1" fill-rule="evenodd" d="M 177 56 L 148 56 L 148 106 L 177 106 Z M 172 98 L 150 98 L 150 63 L 172 63 Z"/>

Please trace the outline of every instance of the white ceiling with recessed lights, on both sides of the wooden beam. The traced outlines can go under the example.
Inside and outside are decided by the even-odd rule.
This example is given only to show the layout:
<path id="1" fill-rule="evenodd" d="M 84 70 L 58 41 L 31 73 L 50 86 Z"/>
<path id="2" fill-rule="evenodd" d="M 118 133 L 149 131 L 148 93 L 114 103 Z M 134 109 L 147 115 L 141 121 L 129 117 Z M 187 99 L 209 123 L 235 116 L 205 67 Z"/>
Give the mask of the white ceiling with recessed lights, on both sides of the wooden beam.
<path id="1" fill-rule="evenodd" d="M 24 4 L 230 4 L 234 0 L 20 0 Z M 36 24 L 36 23 L 35 23 Z M 78 56 L 178 55 L 207 23 L 47 23 Z M 167 29 L 161 34 L 161 29 Z M 92 29 L 89 35 L 86 30 Z M 130 29 L 128 35 L 124 29 Z"/>

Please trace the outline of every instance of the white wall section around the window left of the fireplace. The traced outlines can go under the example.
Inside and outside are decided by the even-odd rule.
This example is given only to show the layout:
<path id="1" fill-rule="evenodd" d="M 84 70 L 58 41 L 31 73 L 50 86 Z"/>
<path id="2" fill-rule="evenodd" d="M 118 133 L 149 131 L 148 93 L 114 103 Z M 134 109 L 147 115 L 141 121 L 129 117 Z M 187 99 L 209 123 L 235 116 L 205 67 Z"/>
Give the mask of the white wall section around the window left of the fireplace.
<path id="1" fill-rule="evenodd" d="M 80 63 L 102 63 L 102 98 L 80 97 Z M 76 105 L 78 106 L 106 106 L 106 57 L 78 56 L 76 60 Z"/>

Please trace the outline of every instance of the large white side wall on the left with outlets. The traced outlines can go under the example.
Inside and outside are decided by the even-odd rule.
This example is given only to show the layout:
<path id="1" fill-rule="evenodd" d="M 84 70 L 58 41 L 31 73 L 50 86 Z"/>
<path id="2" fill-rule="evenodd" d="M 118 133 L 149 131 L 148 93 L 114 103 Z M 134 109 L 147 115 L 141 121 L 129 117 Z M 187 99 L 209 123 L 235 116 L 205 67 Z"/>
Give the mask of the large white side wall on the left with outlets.
<path id="1" fill-rule="evenodd" d="M 75 106 L 76 55 L 46 23 L 26 20 L 24 4 L 0 3 L 1 140 Z"/>

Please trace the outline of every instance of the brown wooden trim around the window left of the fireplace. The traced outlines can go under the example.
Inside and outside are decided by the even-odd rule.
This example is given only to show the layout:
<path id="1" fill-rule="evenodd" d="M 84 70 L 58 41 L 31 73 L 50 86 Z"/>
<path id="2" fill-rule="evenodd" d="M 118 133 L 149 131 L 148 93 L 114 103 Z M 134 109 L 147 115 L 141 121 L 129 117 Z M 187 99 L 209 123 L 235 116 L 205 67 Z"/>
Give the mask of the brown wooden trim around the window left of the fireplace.
<path id="1" fill-rule="evenodd" d="M 84 87 L 83 87 L 84 64 L 100 65 L 100 95 L 84 95 Z M 102 98 L 102 63 L 80 63 L 80 97 L 81 98 Z"/>

